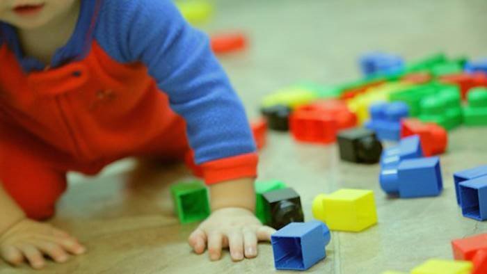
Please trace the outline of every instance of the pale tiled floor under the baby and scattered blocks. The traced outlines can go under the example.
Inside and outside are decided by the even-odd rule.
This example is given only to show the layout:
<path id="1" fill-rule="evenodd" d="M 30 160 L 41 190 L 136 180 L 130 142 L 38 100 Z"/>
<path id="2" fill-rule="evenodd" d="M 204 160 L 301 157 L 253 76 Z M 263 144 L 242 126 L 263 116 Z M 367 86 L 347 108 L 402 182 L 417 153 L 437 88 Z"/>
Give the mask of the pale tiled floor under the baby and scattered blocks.
<path id="1" fill-rule="evenodd" d="M 294 81 L 340 83 L 356 79 L 357 56 L 368 50 L 397 52 L 408 60 L 434 51 L 452 56 L 486 54 L 487 3 L 445 1 L 221 0 L 203 26 L 214 32 L 245 29 L 252 38 L 245 54 L 222 63 L 248 115 L 257 116 L 263 95 Z M 261 179 L 282 179 L 300 194 L 306 218 L 316 193 L 338 188 L 375 191 L 379 224 L 365 232 L 333 233 L 326 260 L 314 273 L 408 271 L 430 257 L 451 258 L 449 241 L 487 229 L 461 216 L 452 172 L 486 163 L 486 129 L 455 130 L 441 157 L 445 191 L 438 198 L 394 200 L 378 186 L 378 166 L 338 160 L 334 145 L 298 145 L 287 134 L 271 134 L 262 151 Z M 120 166 L 120 165 L 119 165 Z M 129 164 L 130 166 L 130 164 Z M 123 169 L 123 168 L 122 168 Z M 272 273 L 271 246 L 256 259 L 218 262 L 191 253 L 186 237 L 195 225 L 179 225 L 167 185 L 189 176 L 183 166 L 142 167 L 94 179 L 72 177 L 70 191 L 52 223 L 77 235 L 89 252 L 38 273 Z M 0 273 L 28 273 L 0 262 Z"/>

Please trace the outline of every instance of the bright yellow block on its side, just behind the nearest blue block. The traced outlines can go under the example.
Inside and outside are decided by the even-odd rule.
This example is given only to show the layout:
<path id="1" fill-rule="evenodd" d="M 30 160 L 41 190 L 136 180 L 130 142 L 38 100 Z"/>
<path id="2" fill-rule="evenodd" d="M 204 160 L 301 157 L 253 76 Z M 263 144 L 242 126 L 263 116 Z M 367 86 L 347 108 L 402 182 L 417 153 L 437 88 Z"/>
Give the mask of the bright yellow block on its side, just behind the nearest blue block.
<path id="1" fill-rule="evenodd" d="M 360 232 L 377 223 L 373 191 L 344 188 L 329 195 L 317 195 L 312 213 L 331 230 Z"/>

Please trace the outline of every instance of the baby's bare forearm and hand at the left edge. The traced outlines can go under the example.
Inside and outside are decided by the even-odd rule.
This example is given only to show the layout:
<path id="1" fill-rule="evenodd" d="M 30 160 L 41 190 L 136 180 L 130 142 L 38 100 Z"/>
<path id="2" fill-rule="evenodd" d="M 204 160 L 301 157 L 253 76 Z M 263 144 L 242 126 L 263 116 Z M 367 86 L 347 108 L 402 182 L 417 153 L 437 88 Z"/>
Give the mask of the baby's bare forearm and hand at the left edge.
<path id="1" fill-rule="evenodd" d="M 45 265 L 43 255 L 54 261 L 68 259 L 67 252 L 79 255 L 85 248 L 66 232 L 47 223 L 26 218 L 22 209 L 3 190 L 0 182 L 0 257 L 17 266 L 26 259 L 33 268 Z"/>

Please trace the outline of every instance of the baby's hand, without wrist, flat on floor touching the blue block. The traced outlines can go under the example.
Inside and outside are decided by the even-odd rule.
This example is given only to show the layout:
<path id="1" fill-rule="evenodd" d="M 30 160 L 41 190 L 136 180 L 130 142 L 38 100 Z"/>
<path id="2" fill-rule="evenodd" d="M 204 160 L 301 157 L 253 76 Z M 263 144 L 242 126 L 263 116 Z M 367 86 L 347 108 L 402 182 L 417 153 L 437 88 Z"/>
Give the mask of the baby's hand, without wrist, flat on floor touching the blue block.
<path id="1" fill-rule="evenodd" d="M 270 241 L 276 232 L 260 223 L 253 212 L 239 207 L 227 207 L 211 213 L 189 236 L 189 245 L 196 253 L 205 252 L 208 245 L 209 258 L 221 257 L 221 249 L 230 247 L 234 261 L 257 256 L 257 241 Z"/>

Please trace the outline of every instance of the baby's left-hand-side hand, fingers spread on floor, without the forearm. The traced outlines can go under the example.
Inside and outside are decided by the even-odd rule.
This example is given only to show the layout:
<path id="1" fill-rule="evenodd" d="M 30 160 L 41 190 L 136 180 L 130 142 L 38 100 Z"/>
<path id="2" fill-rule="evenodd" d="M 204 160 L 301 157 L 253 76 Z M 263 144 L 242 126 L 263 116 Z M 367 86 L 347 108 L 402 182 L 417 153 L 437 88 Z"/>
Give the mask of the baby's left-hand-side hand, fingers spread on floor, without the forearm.
<path id="1" fill-rule="evenodd" d="M 45 265 L 43 255 L 62 263 L 67 261 L 68 252 L 80 255 L 85 250 L 66 232 L 29 219 L 21 220 L 0 235 L 0 256 L 14 266 L 26 259 L 33 268 L 42 268 Z"/>

